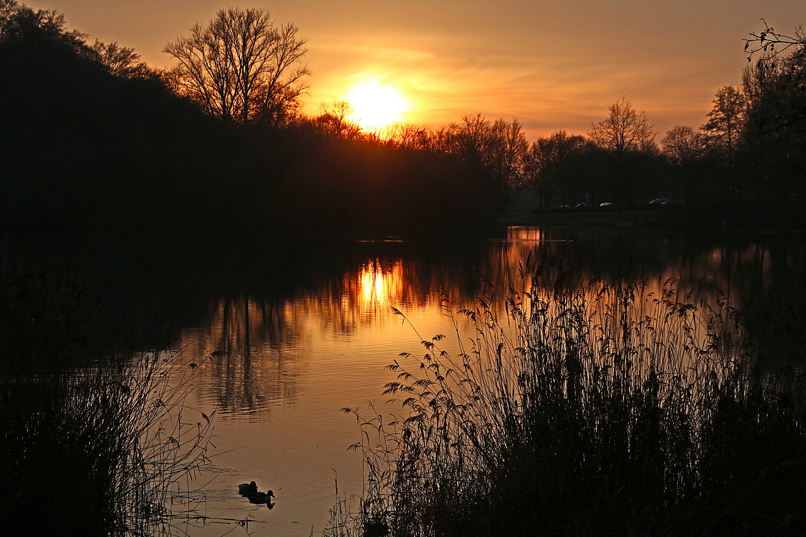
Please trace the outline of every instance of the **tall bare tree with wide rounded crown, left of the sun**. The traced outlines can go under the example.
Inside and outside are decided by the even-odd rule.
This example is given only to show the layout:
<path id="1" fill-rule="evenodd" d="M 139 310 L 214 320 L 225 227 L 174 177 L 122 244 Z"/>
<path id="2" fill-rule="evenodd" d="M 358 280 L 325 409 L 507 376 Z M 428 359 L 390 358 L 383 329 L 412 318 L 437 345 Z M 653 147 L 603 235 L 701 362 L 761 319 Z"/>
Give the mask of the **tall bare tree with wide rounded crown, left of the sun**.
<path id="1" fill-rule="evenodd" d="M 305 39 L 293 24 L 275 27 L 263 9 L 220 10 L 164 52 L 179 61 L 173 75 L 181 93 L 226 121 L 282 122 L 307 92 L 301 65 Z"/>

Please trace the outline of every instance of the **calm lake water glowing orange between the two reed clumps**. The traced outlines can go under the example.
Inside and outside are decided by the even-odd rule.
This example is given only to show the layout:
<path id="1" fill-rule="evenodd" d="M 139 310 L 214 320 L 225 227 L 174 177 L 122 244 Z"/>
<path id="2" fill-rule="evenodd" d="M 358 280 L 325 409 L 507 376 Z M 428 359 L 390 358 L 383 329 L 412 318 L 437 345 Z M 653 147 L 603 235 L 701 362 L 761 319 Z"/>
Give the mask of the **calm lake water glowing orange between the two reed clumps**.
<path id="1" fill-rule="evenodd" d="M 705 295 L 720 290 L 741 304 L 798 282 L 804 246 L 803 233 L 514 226 L 456 240 L 311 238 L 261 245 L 249 258 L 219 249 L 210 258 L 224 261 L 202 262 L 181 277 L 169 270 L 181 256 L 160 270 L 156 263 L 126 270 L 132 295 L 171 318 L 174 349 L 200 366 L 189 406 L 215 411 L 216 471 L 190 485 L 196 508 L 213 522 L 249 518 L 253 535 L 318 535 L 337 480 L 342 498 L 361 492 L 360 453 L 347 451 L 359 429 L 340 409 L 368 401 L 384 413 L 400 409 L 381 394 L 394 379 L 384 366 L 401 352 L 421 353 L 418 333 L 455 338 L 441 290 L 460 308 L 480 293 L 479 275 L 505 291 L 530 252 L 567 249 L 605 272 L 642 270 L 648 279 L 674 278 Z M 274 491 L 271 510 L 239 496 L 237 485 L 252 480 Z M 223 535 L 233 528 L 242 531 L 233 523 L 185 529 Z"/>

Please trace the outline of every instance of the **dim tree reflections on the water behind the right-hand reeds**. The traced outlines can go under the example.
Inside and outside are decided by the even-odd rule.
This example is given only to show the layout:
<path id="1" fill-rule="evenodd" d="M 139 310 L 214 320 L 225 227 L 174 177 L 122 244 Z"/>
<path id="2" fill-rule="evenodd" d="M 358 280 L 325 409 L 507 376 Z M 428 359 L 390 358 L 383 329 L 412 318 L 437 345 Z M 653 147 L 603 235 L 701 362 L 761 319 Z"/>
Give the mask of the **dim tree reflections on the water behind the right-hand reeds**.
<path id="1" fill-rule="evenodd" d="M 672 229 L 540 229 L 513 226 L 492 242 L 481 271 L 500 285 L 517 283 L 518 263 L 566 250 L 584 270 L 641 271 L 649 281 L 675 280 L 681 291 L 724 292 L 736 302 L 786 287 L 806 262 L 802 242 L 783 235 L 687 236 Z"/>

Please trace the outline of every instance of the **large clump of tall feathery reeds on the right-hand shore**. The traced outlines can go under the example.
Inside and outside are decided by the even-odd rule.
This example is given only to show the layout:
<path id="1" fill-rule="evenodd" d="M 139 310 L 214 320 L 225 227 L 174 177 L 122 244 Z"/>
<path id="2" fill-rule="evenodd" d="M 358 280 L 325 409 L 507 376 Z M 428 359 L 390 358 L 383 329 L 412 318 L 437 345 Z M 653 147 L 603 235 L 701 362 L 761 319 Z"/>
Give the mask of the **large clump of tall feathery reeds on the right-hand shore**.
<path id="1" fill-rule="evenodd" d="M 472 337 L 389 366 L 407 414 L 345 409 L 364 494 L 330 535 L 803 534 L 803 378 L 741 312 L 564 255 L 519 281 L 455 314 L 443 296 Z"/>

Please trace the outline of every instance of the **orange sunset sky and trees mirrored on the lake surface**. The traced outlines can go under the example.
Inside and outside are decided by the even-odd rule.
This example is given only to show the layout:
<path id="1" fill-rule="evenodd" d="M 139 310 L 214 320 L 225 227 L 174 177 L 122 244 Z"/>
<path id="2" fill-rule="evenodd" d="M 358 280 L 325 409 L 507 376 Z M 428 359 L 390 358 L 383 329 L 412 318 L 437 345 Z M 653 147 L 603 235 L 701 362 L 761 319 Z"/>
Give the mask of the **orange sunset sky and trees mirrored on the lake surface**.
<path id="1" fill-rule="evenodd" d="M 683 290 L 701 285 L 706 293 L 716 287 L 737 301 L 789 283 L 804 266 L 800 235 L 692 239 L 657 229 L 517 227 L 500 239 L 468 241 L 467 255 L 465 246 L 447 242 L 424 242 L 422 250 L 409 243 L 402 253 L 382 244 L 372 255 L 364 243 L 364 258 L 340 272 L 314 274 L 285 298 L 222 295 L 200 324 L 181 332 L 177 345 L 202 364 L 193 404 L 218 408 L 214 444 L 222 454 L 214 463 L 222 473 L 206 485 L 209 516 L 251 513 L 264 521 L 250 525 L 255 535 L 310 535 L 312 527 L 317 535 L 334 502 L 334 469 L 339 489 L 359 494 L 361 488 L 360 457 L 345 451 L 359 440 L 355 418 L 339 409 L 371 399 L 383 408 L 381 386 L 393 378 L 384 366 L 402 351 L 418 352 L 412 326 L 422 337 L 451 334 L 440 291 L 457 307 L 472 304 L 479 292 L 474 265 L 505 289 L 517 283 L 518 263 L 536 246 L 550 253 L 569 248 L 607 270 L 629 257 L 629 270 L 642 267 L 650 281 L 671 277 Z M 239 498 L 235 485 L 252 479 L 275 491 L 271 511 Z M 225 531 L 214 525 L 192 534 Z"/>

